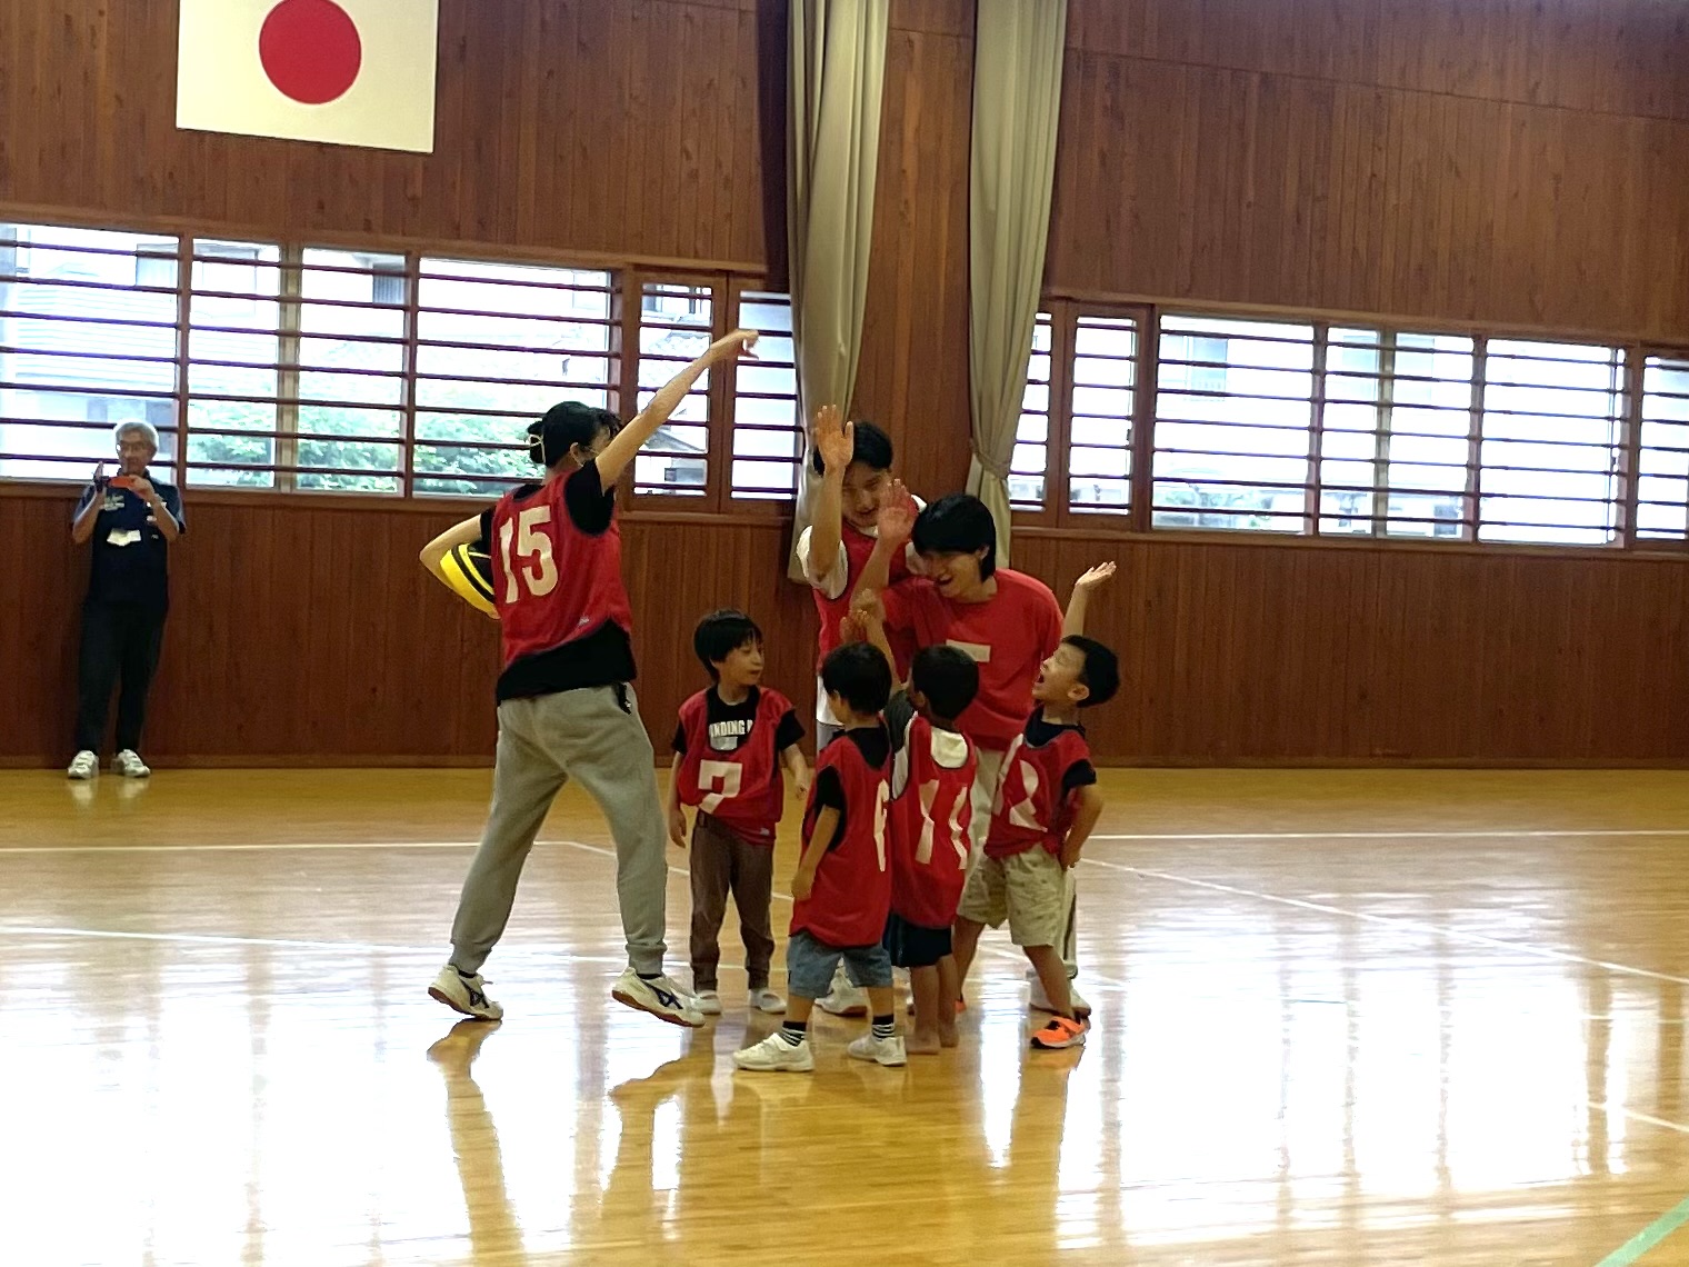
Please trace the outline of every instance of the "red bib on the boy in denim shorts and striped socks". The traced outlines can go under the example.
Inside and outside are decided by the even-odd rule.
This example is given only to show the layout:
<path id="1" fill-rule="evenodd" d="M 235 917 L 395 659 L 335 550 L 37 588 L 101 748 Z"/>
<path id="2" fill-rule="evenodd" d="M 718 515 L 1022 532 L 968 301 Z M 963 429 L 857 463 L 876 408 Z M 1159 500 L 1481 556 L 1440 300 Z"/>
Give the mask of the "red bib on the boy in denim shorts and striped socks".
<path id="1" fill-rule="evenodd" d="M 846 730 L 816 757 L 816 782 L 804 811 L 804 848 L 823 808 L 841 813 L 838 835 L 816 868 L 809 897 L 792 902 L 792 933 L 826 946 L 875 946 L 892 911 L 885 816 L 890 745 L 885 728 Z"/>

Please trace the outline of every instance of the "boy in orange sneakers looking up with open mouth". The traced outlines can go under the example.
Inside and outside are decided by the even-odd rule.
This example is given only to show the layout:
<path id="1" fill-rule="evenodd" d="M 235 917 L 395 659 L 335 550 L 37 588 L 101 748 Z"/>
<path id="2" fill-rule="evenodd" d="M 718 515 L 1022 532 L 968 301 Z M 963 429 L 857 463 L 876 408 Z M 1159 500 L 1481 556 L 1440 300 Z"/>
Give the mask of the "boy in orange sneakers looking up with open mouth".
<path id="1" fill-rule="evenodd" d="M 985 856 L 968 875 L 956 912 L 963 980 L 980 933 L 1005 919 L 1032 961 L 1054 1014 L 1032 1036 L 1034 1047 L 1078 1047 L 1088 1029 L 1074 1017 L 1057 944 L 1071 904 L 1069 872 L 1103 813 L 1079 710 L 1106 703 L 1118 689 L 1115 654 L 1091 639 L 1066 637 L 1044 662 L 1032 688 L 1037 708 L 1003 757 Z"/>

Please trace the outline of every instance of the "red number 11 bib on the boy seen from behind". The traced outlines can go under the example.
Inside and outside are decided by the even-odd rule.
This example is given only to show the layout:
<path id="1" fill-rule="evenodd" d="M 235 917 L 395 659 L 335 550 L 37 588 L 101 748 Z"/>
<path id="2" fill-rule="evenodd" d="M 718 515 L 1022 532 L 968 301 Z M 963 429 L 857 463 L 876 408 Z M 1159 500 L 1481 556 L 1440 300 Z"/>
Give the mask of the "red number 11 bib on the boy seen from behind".
<path id="1" fill-rule="evenodd" d="M 921 927 L 956 922 L 980 759 L 966 737 L 914 716 L 892 762 L 892 909 Z"/>

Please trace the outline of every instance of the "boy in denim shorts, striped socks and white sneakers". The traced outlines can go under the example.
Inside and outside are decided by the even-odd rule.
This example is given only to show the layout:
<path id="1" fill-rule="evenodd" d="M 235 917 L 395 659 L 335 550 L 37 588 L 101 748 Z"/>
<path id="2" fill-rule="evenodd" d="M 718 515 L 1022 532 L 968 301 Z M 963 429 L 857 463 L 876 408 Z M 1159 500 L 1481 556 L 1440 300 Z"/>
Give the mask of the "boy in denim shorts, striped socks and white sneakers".
<path id="1" fill-rule="evenodd" d="M 809 1073 L 809 1017 L 839 961 L 866 987 L 873 1027 L 850 1044 L 856 1059 L 905 1063 L 892 1002 L 892 960 L 882 944 L 892 909 L 885 818 L 890 738 L 880 713 L 892 666 L 866 644 L 839 647 L 821 684 L 844 731 L 821 750 L 804 813 L 804 845 L 792 877 L 792 931 L 785 943 L 787 1003 L 779 1030 L 733 1054 L 740 1069 Z"/>

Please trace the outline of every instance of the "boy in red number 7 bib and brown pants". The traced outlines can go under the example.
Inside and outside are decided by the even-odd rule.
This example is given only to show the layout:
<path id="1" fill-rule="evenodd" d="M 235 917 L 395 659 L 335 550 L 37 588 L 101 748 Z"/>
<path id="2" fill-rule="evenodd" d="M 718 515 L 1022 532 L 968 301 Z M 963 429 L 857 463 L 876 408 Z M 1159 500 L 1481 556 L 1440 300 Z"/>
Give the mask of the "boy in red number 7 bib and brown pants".
<path id="1" fill-rule="evenodd" d="M 809 765 L 797 747 L 804 726 L 792 701 L 762 686 L 762 630 L 743 612 L 713 612 L 698 622 L 692 650 L 713 686 L 681 704 L 669 780 L 669 840 L 686 848 L 692 823 L 692 995 L 704 1015 L 720 1015 L 716 968 L 721 921 L 731 892 L 745 938 L 745 975 L 753 1012 L 784 1012 L 768 988 L 774 931 L 774 833 L 785 813 L 785 780 L 809 792 Z"/>

